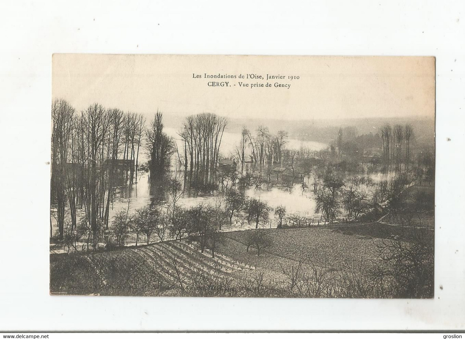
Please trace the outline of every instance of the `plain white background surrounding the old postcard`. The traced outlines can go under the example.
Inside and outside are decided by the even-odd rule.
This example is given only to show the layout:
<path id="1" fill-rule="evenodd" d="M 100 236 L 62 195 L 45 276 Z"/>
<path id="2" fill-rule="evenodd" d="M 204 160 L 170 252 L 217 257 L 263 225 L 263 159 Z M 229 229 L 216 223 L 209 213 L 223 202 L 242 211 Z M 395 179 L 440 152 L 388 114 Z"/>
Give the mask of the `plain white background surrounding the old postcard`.
<path id="1" fill-rule="evenodd" d="M 1 1 L 0 331 L 464 329 L 464 13 L 463 0 Z M 49 296 L 52 53 L 436 56 L 434 300 Z"/>

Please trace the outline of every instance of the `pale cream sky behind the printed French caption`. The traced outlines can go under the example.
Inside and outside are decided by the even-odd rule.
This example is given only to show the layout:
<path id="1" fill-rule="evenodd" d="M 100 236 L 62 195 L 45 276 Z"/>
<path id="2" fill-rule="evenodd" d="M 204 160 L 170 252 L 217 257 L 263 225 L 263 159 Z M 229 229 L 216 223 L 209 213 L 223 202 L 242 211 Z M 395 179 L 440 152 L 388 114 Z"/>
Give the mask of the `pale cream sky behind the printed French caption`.
<path id="1" fill-rule="evenodd" d="M 194 79 L 193 73 L 201 74 Z M 254 73 L 286 79 L 204 79 L 208 74 Z M 299 80 L 287 76 L 297 75 Z M 228 81 L 210 87 L 208 81 Z M 240 87 L 269 82 L 272 87 Z M 290 88 L 274 87 L 274 83 Z M 236 86 L 233 86 L 236 85 Z M 433 57 L 310 57 L 54 54 L 53 99 L 78 111 L 98 102 L 143 113 L 211 112 L 261 119 L 433 118 Z"/>

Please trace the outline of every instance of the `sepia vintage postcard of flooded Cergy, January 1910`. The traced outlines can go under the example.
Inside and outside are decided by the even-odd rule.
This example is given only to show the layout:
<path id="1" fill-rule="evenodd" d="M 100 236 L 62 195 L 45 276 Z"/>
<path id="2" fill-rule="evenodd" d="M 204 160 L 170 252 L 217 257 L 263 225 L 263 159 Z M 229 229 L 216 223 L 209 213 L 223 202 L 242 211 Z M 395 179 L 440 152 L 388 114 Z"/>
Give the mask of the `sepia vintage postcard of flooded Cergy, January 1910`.
<path id="1" fill-rule="evenodd" d="M 433 298 L 434 57 L 52 70 L 51 294 Z"/>

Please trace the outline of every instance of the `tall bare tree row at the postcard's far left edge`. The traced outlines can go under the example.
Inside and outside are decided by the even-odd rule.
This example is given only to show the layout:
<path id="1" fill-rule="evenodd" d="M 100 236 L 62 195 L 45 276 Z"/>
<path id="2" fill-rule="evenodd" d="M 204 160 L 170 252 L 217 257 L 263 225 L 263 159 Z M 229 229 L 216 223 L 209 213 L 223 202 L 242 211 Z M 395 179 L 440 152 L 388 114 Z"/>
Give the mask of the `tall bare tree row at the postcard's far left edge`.
<path id="1" fill-rule="evenodd" d="M 51 206 L 57 211 L 59 237 L 63 237 L 67 205 L 71 232 L 77 223 L 76 210 L 84 208 L 97 239 L 98 220 L 108 225 L 113 188 L 132 183 L 135 173 L 137 180 L 145 120 L 97 103 L 77 113 L 68 102 L 57 99 L 52 104 L 52 122 Z"/>

